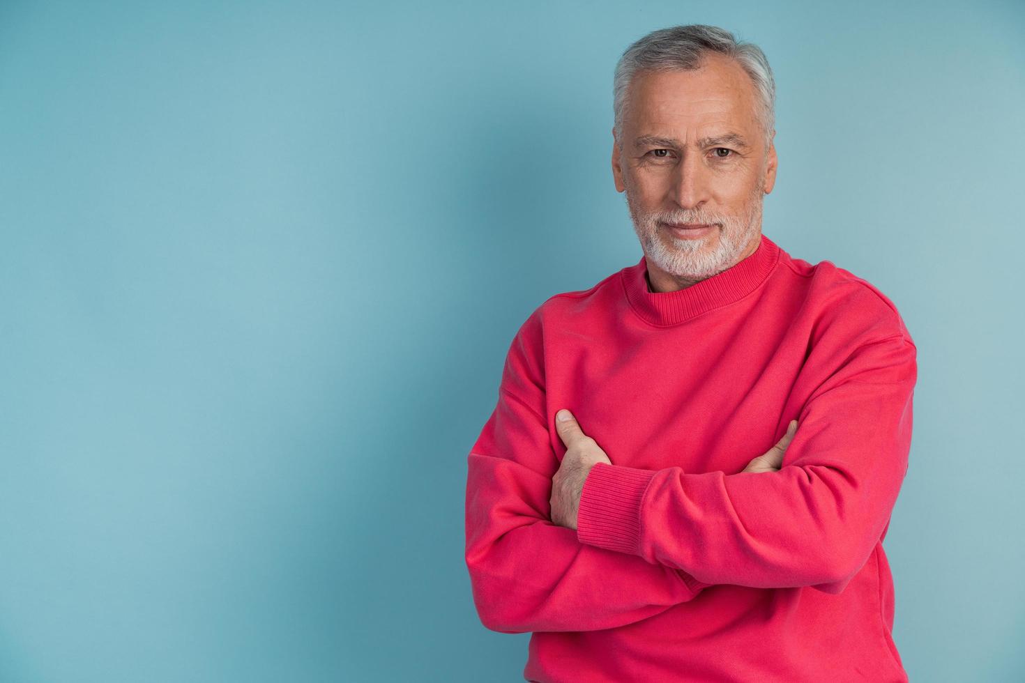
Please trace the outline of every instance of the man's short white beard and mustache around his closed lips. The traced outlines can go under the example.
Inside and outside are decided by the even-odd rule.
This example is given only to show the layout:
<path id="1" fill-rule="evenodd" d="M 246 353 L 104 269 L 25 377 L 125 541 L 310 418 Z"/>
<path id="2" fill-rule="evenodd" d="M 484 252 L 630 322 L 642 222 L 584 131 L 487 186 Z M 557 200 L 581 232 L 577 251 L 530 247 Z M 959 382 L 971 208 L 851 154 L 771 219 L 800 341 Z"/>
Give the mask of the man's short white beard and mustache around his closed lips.
<path id="1" fill-rule="evenodd" d="M 626 204 L 633 221 L 633 231 L 641 241 L 645 257 L 662 270 L 676 278 L 701 281 L 726 270 L 740 261 L 740 255 L 762 232 L 761 187 L 750 198 L 751 210 L 746 216 L 729 216 L 707 211 L 680 210 L 642 214 L 630 201 Z M 659 222 L 705 223 L 714 228 L 696 240 L 675 238 Z M 709 244 L 713 244 L 709 247 Z"/>

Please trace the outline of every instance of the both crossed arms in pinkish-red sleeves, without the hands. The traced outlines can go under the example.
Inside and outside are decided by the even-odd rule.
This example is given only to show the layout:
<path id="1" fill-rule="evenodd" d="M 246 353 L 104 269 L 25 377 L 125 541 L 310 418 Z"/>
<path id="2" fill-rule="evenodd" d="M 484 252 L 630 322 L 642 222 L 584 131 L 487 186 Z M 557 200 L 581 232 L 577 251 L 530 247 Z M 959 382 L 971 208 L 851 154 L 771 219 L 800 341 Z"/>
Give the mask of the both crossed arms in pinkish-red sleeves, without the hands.
<path id="1" fill-rule="evenodd" d="M 550 516 L 560 461 L 543 375 L 523 338 L 538 324 L 532 316 L 514 340 L 498 403 L 467 460 L 465 560 L 488 629 L 609 629 L 714 584 L 837 593 L 864 565 L 907 469 L 909 339 L 854 350 L 802 408 L 778 472 L 599 463 L 573 529 Z"/>

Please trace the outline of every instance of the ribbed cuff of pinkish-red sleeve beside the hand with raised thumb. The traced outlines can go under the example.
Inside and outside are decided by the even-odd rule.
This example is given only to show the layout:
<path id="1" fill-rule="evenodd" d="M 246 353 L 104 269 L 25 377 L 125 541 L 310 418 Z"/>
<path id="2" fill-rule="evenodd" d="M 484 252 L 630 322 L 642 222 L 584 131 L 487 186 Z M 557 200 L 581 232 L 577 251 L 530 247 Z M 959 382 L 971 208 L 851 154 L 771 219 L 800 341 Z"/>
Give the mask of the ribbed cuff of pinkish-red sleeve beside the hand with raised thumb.
<path id="1" fill-rule="evenodd" d="M 638 555 L 641 500 L 656 470 L 598 463 L 580 494 L 577 539 L 599 548 Z"/>

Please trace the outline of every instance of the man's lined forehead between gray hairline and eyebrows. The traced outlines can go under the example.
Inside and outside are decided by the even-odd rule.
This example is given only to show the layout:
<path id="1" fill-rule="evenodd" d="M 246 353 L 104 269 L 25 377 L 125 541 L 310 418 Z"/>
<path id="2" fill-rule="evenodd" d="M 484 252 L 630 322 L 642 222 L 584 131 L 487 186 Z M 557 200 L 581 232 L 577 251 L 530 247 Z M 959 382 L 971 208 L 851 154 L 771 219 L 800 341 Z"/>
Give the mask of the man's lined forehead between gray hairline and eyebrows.
<path id="1" fill-rule="evenodd" d="M 711 54 L 693 71 L 638 73 L 630 82 L 623 124 L 640 134 L 653 132 L 651 128 L 723 125 L 753 137 L 755 101 L 754 84 L 743 68 Z"/>

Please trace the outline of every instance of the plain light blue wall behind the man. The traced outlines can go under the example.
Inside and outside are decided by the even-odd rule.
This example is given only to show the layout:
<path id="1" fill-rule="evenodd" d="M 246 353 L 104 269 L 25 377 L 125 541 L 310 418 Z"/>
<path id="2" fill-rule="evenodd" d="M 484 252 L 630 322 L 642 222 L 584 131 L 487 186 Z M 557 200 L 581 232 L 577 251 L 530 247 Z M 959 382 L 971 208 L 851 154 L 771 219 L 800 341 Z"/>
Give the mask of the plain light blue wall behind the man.
<path id="1" fill-rule="evenodd" d="M 0 4 L 0 680 L 516 681 L 463 561 L 508 344 L 636 263 L 612 71 L 760 44 L 764 231 L 918 346 L 912 680 L 1025 677 L 1016 2 Z"/>

